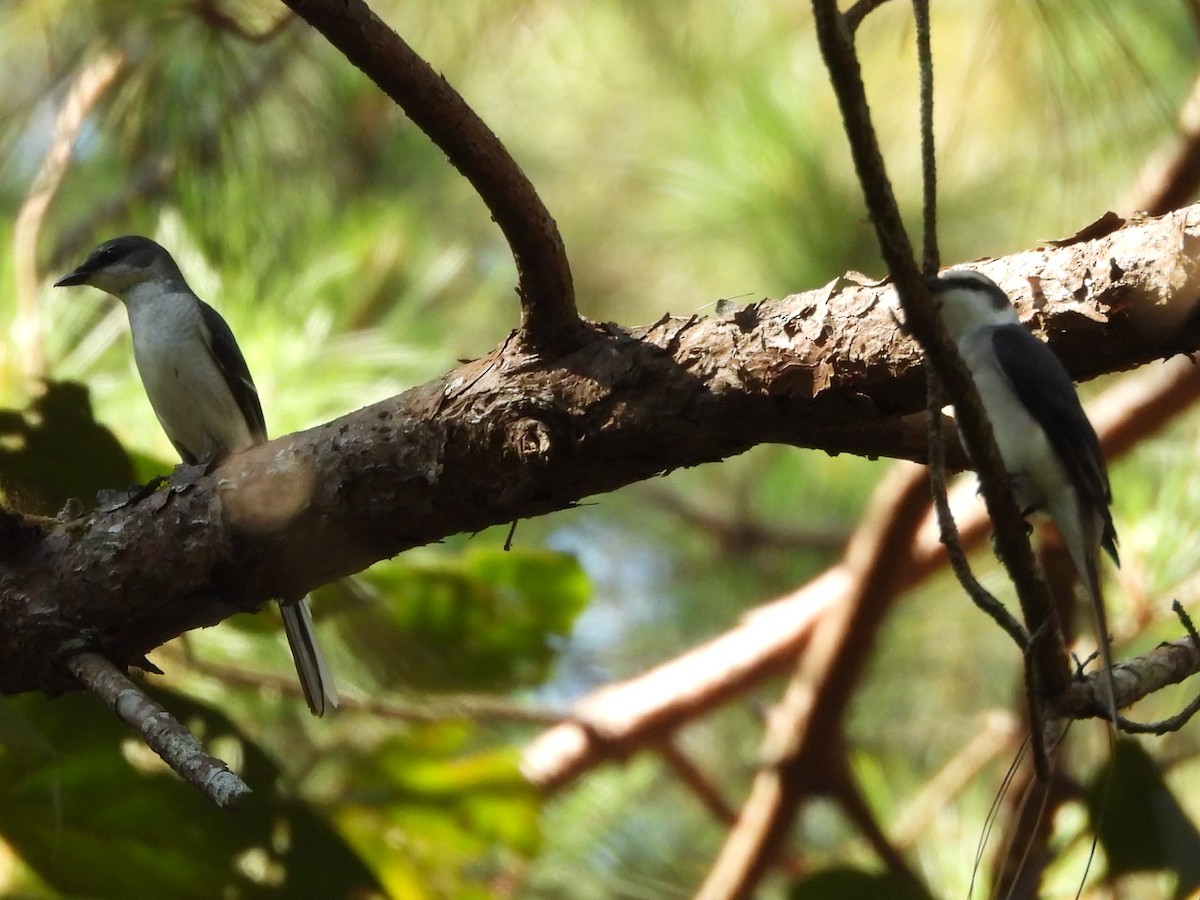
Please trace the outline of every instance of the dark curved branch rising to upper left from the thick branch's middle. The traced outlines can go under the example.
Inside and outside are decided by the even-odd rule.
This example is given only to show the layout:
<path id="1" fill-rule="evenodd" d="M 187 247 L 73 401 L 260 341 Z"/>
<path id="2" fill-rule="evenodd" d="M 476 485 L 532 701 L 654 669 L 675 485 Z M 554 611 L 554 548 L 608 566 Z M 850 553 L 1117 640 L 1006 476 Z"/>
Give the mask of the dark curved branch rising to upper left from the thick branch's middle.
<path id="1" fill-rule="evenodd" d="M 284 0 L 440 148 L 470 181 L 512 250 L 521 338 L 542 355 L 578 347 L 587 329 L 558 226 L 500 139 L 362 0 Z"/>

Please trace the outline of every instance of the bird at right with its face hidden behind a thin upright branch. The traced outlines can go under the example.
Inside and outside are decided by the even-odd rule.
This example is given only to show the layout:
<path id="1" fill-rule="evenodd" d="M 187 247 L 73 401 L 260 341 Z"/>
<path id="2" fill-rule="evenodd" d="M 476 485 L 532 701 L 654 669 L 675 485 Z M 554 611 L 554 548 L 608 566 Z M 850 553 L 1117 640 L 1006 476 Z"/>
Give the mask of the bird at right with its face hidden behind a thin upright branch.
<path id="1" fill-rule="evenodd" d="M 1116 565 L 1121 560 L 1112 490 L 1096 430 L 1062 361 L 1021 324 L 995 281 L 971 269 L 949 269 L 926 284 L 979 391 L 1022 515 L 1049 516 L 1079 572 L 1096 622 L 1106 713 L 1116 727 L 1099 551 Z"/>

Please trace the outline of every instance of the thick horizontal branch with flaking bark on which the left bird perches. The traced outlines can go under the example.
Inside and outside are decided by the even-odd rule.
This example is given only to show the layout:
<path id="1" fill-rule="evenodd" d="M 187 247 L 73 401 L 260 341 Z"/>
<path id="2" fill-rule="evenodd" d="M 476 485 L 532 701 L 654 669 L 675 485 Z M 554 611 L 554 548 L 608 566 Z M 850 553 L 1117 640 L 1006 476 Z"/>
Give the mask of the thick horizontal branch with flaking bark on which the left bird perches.
<path id="1" fill-rule="evenodd" d="M 1200 208 L 985 266 L 1080 378 L 1200 347 Z M 510 341 L 194 484 L 0 529 L 0 691 L 67 689 L 175 635 L 409 547 L 568 508 L 762 443 L 923 460 L 924 378 L 884 288 L 836 281 L 714 318 L 607 325 L 547 361 Z"/>

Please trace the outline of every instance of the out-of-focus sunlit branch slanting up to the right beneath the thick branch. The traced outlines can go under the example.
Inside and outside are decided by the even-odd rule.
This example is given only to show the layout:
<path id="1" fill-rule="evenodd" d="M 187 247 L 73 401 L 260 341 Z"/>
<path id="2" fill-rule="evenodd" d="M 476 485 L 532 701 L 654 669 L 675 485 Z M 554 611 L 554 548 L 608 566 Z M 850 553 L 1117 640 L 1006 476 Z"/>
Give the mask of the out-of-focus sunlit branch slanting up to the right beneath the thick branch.
<path id="1" fill-rule="evenodd" d="M 1200 366 L 1175 360 L 1122 379 L 1090 404 L 1105 455 L 1114 458 L 1162 428 L 1200 396 Z M 952 492 L 962 546 L 978 546 L 990 522 L 974 498 L 974 485 Z M 964 510 L 971 506 L 971 512 Z M 946 564 L 932 512 L 904 556 L 892 560 L 898 590 L 911 588 Z M 750 612 L 733 629 L 636 678 L 611 684 L 575 704 L 569 721 L 557 725 L 524 750 L 522 772 L 542 791 L 557 791 L 606 760 L 624 758 L 654 744 L 732 697 L 740 696 L 793 665 L 814 640 L 823 618 L 838 614 L 852 598 L 854 581 L 844 558 L 794 593 Z M 1177 665 L 1188 659 L 1168 654 Z M 1122 662 L 1121 668 L 1126 664 Z M 1196 660 L 1200 668 L 1200 660 Z M 1121 671 L 1120 668 L 1117 670 Z M 1130 671 L 1142 671 L 1130 670 Z M 1152 664 L 1136 679 L 1120 676 L 1122 706 L 1174 683 L 1181 670 Z M 1153 679 L 1166 679 L 1156 683 Z M 1063 700 L 1074 710 L 1094 708 L 1090 683 L 1073 685 Z M 1127 694 L 1126 691 L 1135 691 Z M 1070 714 L 1064 706 L 1063 715 Z"/>

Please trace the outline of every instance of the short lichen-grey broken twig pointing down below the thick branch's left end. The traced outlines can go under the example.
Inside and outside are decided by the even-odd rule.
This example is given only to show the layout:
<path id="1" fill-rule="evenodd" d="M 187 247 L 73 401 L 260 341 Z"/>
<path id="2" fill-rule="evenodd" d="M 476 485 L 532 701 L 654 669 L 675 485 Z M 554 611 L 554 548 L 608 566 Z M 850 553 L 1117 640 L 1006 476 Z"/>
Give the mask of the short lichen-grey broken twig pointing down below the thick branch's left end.
<path id="1" fill-rule="evenodd" d="M 163 762 L 216 805 L 235 806 L 250 793 L 246 782 L 221 760 L 209 756 L 192 732 L 98 653 L 76 654 L 67 667 L 118 719 L 142 734 Z"/>

